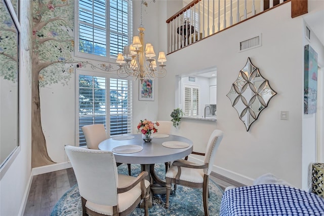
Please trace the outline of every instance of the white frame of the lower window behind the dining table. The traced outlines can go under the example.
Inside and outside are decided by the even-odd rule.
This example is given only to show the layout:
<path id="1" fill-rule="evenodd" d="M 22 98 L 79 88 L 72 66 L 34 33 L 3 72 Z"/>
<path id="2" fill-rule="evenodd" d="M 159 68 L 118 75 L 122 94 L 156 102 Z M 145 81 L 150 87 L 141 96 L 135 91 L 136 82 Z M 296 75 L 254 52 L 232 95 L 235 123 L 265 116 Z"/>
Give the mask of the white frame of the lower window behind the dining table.
<path id="1" fill-rule="evenodd" d="M 98 71 L 89 71 L 86 69 L 76 69 L 75 70 L 75 143 L 76 146 L 80 146 L 80 140 L 79 140 L 79 76 L 80 75 L 86 75 L 86 76 L 93 76 L 93 77 L 103 77 L 106 79 L 106 115 L 105 115 L 105 129 L 106 129 L 106 135 L 107 137 L 110 137 L 110 79 L 121 79 L 121 80 L 128 80 L 132 82 L 131 89 L 129 90 L 130 92 L 134 92 L 134 81 L 130 78 L 120 78 L 117 75 L 113 74 L 107 74 L 103 72 L 98 72 Z M 131 98 L 131 106 L 132 106 L 132 111 L 131 111 L 131 122 L 128 127 L 130 128 L 131 133 L 133 132 L 133 106 L 134 106 L 134 96 L 132 95 Z M 81 146 L 84 147 L 84 146 Z"/>

